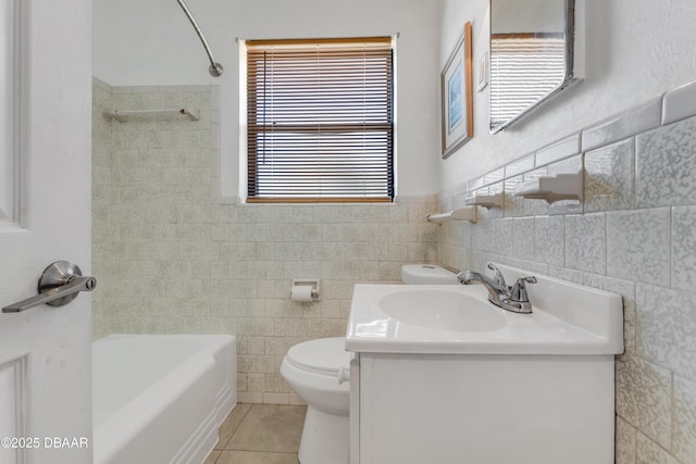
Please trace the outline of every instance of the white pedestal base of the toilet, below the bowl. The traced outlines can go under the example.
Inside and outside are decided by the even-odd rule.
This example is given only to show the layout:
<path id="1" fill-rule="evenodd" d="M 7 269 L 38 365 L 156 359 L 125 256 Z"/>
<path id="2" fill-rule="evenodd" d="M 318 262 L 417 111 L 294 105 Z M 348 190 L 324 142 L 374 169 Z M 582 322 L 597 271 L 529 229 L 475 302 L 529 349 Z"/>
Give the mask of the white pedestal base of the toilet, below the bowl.
<path id="1" fill-rule="evenodd" d="M 298 457 L 301 464 L 348 464 L 348 416 L 307 406 Z"/>

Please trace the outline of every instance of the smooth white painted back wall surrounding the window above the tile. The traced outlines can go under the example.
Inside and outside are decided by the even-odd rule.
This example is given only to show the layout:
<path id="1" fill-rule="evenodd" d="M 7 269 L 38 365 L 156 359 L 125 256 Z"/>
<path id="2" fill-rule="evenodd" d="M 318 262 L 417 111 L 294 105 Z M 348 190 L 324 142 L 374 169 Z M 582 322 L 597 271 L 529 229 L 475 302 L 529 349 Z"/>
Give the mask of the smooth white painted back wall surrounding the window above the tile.
<path id="1" fill-rule="evenodd" d="M 189 0 L 222 77 L 175 0 L 94 0 L 94 74 L 113 86 L 219 84 L 223 196 L 237 195 L 238 46 L 236 37 L 394 35 L 397 55 L 398 195 L 438 189 L 437 2 L 432 0 Z"/>

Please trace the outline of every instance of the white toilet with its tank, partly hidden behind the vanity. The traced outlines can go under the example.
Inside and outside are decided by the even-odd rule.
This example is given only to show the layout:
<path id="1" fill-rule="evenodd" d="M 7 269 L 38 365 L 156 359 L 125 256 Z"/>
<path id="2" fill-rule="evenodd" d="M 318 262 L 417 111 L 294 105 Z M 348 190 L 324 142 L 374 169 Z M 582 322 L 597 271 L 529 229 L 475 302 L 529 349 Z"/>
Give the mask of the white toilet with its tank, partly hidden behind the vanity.
<path id="1" fill-rule="evenodd" d="M 457 276 L 432 264 L 401 266 L 403 284 L 453 285 Z M 307 402 L 298 457 L 301 464 L 348 464 L 350 359 L 346 338 L 320 338 L 287 351 L 281 374 Z"/>

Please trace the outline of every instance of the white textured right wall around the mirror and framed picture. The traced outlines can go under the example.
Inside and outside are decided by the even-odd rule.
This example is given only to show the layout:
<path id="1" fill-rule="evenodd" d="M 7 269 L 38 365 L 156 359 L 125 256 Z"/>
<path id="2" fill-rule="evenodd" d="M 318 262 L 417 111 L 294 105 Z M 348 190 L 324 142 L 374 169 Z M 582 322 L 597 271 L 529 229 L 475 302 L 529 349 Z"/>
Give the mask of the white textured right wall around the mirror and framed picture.
<path id="1" fill-rule="evenodd" d="M 473 23 L 474 81 L 488 49 L 488 0 L 440 0 L 439 63 Z M 440 190 L 696 79 L 696 2 L 586 0 L 585 80 L 512 128 L 488 133 L 488 87 L 474 92 L 474 138 L 439 163 Z"/>

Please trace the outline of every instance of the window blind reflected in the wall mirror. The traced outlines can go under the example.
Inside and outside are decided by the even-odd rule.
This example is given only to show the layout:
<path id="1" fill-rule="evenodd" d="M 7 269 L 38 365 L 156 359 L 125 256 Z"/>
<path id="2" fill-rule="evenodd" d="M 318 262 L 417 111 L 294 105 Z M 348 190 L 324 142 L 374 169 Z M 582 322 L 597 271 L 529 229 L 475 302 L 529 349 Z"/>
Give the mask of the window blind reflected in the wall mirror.
<path id="1" fill-rule="evenodd" d="M 504 124 L 554 91 L 566 75 L 566 38 L 554 34 L 490 37 L 490 125 Z"/>

